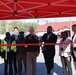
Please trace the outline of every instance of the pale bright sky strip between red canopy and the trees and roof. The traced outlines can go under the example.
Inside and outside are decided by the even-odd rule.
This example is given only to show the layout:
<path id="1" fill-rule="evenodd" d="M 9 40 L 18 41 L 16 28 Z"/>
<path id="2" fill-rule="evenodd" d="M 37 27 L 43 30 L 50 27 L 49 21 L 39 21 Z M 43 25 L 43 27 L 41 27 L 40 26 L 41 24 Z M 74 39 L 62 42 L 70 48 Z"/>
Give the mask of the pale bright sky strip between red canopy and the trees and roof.
<path id="1" fill-rule="evenodd" d="M 61 18 L 40 18 L 40 19 L 20 19 L 20 21 L 24 22 L 24 23 L 31 23 L 31 22 L 35 22 L 37 23 L 37 20 L 39 20 L 40 25 L 44 25 L 46 24 L 46 21 L 48 20 L 48 22 L 65 22 L 65 21 L 76 21 L 76 17 L 61 17 Z"/>

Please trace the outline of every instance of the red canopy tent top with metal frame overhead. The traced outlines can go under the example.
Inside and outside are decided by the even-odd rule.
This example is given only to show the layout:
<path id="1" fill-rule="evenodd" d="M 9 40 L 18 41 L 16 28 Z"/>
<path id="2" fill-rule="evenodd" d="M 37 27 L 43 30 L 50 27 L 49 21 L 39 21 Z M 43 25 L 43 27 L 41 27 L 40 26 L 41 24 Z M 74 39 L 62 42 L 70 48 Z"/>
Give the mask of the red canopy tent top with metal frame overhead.
<path id="1" fill-rule="evenodd" d="M 0 0 L 0 20 L 76 16 L 76 0 Z"/>

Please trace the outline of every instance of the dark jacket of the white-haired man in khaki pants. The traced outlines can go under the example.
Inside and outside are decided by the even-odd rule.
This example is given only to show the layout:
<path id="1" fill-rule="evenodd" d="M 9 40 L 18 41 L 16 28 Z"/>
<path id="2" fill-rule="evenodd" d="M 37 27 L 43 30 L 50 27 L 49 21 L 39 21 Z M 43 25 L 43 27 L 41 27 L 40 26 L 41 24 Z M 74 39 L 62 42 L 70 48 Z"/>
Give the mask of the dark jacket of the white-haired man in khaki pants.
<path id="1" fill-rule="evenodd" d="M 27 44 L 39 44 L 38 42 L 38 37 L 36 35 L 27 35 L 25 39 L 25 43 Z M 27 47 L 27 52 L 40 52 L 39 46 L 28 46 Z"/>

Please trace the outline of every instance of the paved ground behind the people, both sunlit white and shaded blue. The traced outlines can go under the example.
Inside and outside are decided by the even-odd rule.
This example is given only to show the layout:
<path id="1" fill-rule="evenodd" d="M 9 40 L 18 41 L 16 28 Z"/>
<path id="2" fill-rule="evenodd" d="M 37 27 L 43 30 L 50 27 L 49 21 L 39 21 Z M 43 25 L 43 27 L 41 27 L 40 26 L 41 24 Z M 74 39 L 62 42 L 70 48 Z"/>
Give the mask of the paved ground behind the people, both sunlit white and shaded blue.
<path id="1" fill-rule="evenodd" d="M 63 72 L 58 52 L 59 52 L 59 48 L 58 48 L 58 46 L 56 46 L 56 55 L 54 58 L 54 75 L 62 75 L 62 72 Z M 71 66 L 72 66 L 73 75 L 76 75 L 73 60 L 71 62 Z M 3 73 L 4 73 L 4 60 L 0 58 L 0 75 L 3 75 Z M 37 57 L 36 73 L 37 73 L 37 75 L 47 75 L 46 66 L 45 66 L 43 54 L 41 51 L 40 51 L 40 55 Z M 24 74 L 24 67 L 22 70 L 22 75 L 25 75 Z"/>

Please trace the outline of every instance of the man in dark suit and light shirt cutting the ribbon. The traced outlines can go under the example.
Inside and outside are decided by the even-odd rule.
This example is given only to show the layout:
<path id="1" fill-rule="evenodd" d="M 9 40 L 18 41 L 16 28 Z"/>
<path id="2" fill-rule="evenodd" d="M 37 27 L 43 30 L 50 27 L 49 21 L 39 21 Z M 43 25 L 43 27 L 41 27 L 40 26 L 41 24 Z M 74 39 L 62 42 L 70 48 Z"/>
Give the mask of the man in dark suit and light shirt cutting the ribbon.
<path id="1" fill-rule="evenodd" d="M 57 36 L 52 33 L 52 27 L 47 27 L 47 33 L 42 36 L 42 42 L 45 43 L 56 43 Z M 47 74 L 53 75 L 54 67 L 54 56 L 55 56 L 55 45 L 44 45 L 42 47 L 42 52 L 44 55 L 45 65 L 47 68 Z"/>

